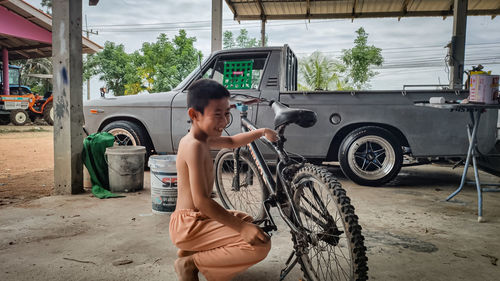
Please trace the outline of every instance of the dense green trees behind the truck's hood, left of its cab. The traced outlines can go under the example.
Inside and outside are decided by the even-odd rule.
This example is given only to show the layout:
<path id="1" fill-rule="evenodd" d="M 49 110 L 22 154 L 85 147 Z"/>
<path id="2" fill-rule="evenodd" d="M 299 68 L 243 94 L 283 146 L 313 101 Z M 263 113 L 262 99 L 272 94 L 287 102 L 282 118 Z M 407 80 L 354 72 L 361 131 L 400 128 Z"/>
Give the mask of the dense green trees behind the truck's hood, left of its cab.
<path id="1" fill-rule="evenodd" d="M 146 42 L 132 54 L 125 53 L 123 45 L 106 42 L 102 52 L 84 63 L 84 79 L 99 75 L 114 95 L 169 91 L 198 65 L 202 54 L 194 48 L 195 41 L 184 30 L 173 40 L 160 34 L 156 42 Z"/>

